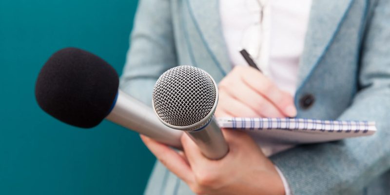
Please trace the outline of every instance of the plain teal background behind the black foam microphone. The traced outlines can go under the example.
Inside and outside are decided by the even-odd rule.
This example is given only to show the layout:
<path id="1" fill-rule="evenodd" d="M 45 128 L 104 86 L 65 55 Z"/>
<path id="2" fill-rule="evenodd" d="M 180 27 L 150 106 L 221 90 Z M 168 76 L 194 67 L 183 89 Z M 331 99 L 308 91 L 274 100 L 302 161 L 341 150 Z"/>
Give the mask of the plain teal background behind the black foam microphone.
<path id="1" fill-rule="evenodd" d="M 138 195 L 155 158 L 138 135 L 41 111 L 34 85 L 63 47 L 86 49 L 121 73 L 137 0 L 0 0 L 0 194 Z"/>

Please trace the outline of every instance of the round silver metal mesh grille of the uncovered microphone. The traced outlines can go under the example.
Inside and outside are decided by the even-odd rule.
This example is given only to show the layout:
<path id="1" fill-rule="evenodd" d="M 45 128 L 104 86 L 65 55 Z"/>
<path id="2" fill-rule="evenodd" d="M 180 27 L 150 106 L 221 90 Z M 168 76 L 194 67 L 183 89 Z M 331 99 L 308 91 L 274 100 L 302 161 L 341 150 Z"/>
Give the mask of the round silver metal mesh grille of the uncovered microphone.
<path id="1" fill-rule="evenodd" d="M 193 125 L 207 117 L 215 101 L 213 79 L 193 66 L 169 69 L 158 78 L 153 89 L 153 105 L 158 117 L 179 127 Z"/>

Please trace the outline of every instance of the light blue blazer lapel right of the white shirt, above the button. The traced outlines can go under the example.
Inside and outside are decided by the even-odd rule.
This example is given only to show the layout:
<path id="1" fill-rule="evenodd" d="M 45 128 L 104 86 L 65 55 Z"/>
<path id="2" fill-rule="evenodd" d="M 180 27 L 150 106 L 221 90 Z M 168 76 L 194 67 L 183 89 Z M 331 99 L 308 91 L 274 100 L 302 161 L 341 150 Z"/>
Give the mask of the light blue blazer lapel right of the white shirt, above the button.
<path id="1" fill-rule="evenodd" d="M 353 0 L 313 0 L 305 48 L 299 65 L 298 86 L 305 83 L 327 52 Z"/>

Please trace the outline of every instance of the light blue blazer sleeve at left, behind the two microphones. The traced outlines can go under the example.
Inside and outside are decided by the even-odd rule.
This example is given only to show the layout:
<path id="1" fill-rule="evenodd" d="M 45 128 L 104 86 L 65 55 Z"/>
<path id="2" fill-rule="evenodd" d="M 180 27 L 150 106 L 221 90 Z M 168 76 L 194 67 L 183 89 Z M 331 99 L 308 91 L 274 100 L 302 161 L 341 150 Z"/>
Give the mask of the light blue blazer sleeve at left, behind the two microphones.
<path id="1" fill-rule="evenodd" d="M 176 64 L 169 0 L 140 0 L 119 88 L 150 106 L 156 80 Z"/>

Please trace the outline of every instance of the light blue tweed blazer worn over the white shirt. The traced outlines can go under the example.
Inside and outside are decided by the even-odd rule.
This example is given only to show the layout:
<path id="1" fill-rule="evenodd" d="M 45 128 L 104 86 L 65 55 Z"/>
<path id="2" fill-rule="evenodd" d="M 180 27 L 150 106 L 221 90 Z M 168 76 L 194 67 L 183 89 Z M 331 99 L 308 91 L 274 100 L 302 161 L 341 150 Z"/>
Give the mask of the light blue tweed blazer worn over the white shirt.
<path id="1" fill-rule="evenodd" d="M 232 64 L 218 0 L 140 0 L 127 57 L 120 87 L 148 105 L 174 66 L 220 81 Z M 310 107 L 300 103 L 307 95 Z M 375 120 L 378 132 L 271 156 L 294 195 L 390 194 L 390 0 L 312 1 L 295 105 L 297 117 Z M 192 193 L 156 163 L 145 194 Z"/>

